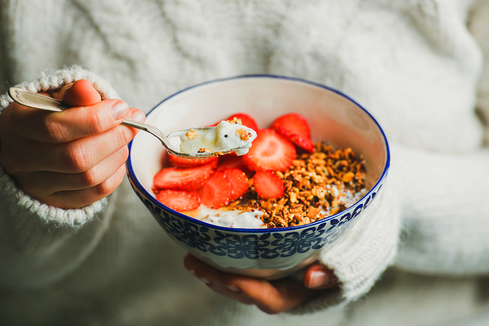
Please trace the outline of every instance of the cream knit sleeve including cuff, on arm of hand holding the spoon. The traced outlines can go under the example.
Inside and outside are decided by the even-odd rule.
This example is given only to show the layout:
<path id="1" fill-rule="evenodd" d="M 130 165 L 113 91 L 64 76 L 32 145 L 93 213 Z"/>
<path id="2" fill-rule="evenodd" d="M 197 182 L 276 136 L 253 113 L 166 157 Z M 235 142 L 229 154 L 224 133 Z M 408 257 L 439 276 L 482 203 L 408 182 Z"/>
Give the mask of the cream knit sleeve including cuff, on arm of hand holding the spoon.
<path id="1" fill-rule="evenodd" d="M 17 87 L 37 92 L 80 79 L 90 81 L 103 98 L 117 98 L 101 76 L 79 66 L 43 73 Z M 8 95 L 0 98 L 0 114 L 10 102 Z M 104 198 L 79 209 L 48 206 L 18 188 L 0 165 L 0 285 L 37 287 L 74 270 L 108 226 L 107 203 Z"/>

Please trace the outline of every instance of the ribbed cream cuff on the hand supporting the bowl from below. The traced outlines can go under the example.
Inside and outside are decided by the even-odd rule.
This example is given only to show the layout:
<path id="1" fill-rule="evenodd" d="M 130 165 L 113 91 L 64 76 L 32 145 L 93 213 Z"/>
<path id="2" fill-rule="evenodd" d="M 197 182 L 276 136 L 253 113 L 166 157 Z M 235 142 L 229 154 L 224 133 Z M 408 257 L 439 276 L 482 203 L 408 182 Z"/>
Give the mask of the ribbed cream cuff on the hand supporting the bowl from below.
<path id="1" fill-rule="evenodd" d="M 379 198 L 344 237 L 325 248 L 319 257 L 319 262 L 334 271 L 339 288 L 323 291 L 291 313 L 311 313 L 357 300 L 393 263 L 399 240 L 400 211 L 388 183 L 387 180 Z"/>

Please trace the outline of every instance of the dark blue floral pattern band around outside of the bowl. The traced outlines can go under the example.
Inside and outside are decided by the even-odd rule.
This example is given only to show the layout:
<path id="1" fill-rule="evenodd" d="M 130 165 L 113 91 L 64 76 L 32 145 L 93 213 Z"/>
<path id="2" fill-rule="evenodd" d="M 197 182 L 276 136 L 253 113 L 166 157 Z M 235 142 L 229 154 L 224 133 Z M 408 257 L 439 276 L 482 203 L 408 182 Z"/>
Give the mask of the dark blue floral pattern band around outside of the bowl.
<path id="1" fill-rule="evenodd" d="M 316 221 L 307 228 L 294 227 L 253 229 L 253 233 L 240 233 L 240 229 L 232 229 L 209 225 L 201 221 L 190 221 L 189 217 L 176 213 L 171 209 L 160 208 L 156 200 L 130 179 L 131 186 L 153 214 L 158 223 L 174 240 L 187 249 L 205 253 L 214 258 L 227 256 L 233 259 L 265 259 L 287 258 L 295 254 L 305 254 L 333 243 L 344 234 L 364 209 L 379 193 L 382 183 L 372 190 L 368 196 L 331 217 Z M 352 223 L 347 223 L 352 221 Z M 212 260 L 212 258 L 211 258 Z"/>

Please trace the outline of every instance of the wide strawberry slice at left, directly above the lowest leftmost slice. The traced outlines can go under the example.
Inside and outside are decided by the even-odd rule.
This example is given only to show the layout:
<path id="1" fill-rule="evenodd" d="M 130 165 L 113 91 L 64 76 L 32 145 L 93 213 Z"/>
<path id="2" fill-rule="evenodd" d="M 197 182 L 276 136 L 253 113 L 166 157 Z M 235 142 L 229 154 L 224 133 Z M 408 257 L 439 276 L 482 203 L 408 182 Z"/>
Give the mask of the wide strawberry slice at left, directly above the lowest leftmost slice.
<path id="1" fill-rule="evenodd" d="M 157 189 L 192 191 L 209 180 L 216 164 L 212 162 L 189 168 L 166 167 L 155 175 L 153 183 Z"/>

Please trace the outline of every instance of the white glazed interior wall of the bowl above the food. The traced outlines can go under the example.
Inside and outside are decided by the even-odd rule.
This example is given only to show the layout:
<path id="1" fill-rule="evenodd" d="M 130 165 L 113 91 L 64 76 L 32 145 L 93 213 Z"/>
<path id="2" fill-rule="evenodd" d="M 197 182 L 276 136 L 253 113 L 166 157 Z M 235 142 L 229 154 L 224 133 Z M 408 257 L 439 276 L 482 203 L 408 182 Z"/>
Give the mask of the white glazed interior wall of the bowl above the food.
<path id="1" fill-rule="evenodd" d="M 146 123 L 170 132 L 201 127 L 246 112 L 259 128 L 285 113 L 302 114 L 311 126 L 313 141 L 336 148 L 351 147 L 366 160 L 369 190 L 381 177 L 387 161 L 383 133 L 360 106 L 343 95 L 303 81 L 268 76 L 211 82 L 182 91 L 148 114 Z M 130 161 L 136 178 L 153 194 L 153 176 L 161 169 L 166 151 L 161 143 L 141 131 L 133 140 Z"/>

